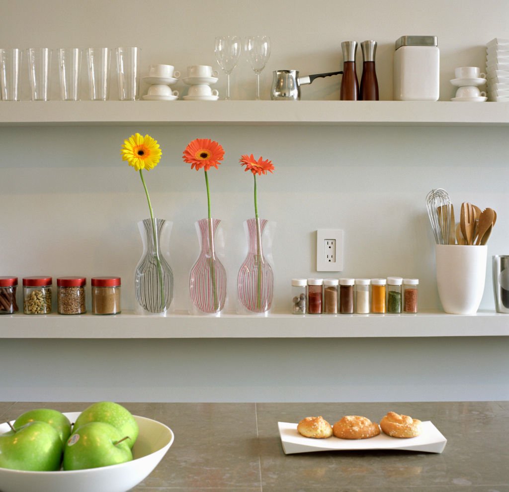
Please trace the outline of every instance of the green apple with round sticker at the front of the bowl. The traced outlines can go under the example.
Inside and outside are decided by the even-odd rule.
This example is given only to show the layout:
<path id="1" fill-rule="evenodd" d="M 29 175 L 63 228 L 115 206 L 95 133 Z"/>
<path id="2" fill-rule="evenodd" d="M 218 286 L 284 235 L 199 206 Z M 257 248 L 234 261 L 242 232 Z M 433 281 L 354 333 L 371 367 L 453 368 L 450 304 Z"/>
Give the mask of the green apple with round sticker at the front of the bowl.
<path id="1" fill-rule="evenodd" d="M 84 424 L 64 447 L 64 470 L 107 467 L 132 460 L 131 449 L 117 428 L 104 422 Z"/>

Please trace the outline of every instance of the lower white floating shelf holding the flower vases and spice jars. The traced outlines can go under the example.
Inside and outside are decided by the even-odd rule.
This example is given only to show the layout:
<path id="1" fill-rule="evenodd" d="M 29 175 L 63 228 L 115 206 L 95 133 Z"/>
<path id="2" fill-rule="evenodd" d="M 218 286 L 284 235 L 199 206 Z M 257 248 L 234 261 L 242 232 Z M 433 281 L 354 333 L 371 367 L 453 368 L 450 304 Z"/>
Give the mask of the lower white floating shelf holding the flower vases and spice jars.
<path id="1" fill-rule="evenodd" d="M 0 339 L 77 338 L 364 338 L 509 336 L 509 315 L 425 311 L 418 314 L 269 316 L 3 315 Z"/>

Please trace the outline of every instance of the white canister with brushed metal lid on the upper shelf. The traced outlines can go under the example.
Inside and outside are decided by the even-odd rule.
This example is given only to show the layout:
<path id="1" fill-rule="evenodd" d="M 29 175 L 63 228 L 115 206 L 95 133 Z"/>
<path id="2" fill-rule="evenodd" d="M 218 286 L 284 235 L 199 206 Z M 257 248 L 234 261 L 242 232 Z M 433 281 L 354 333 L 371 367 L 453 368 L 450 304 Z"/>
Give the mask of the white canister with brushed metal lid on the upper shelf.
<path id="1" fill-rule="evenodd" d="M 438 101 L 440 52 L 436 36 L 402 36 L 394 53 L 395 101 Z"/>

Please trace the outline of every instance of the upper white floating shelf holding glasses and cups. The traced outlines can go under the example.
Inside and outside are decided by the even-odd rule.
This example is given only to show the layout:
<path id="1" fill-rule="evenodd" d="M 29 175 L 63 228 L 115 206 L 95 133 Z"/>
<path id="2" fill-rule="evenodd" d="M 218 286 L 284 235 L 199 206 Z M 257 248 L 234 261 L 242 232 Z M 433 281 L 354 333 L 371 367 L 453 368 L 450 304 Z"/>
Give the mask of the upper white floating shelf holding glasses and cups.
<path id="1" fill-rule="evenodd" d="M 507 102 L 1 101 L 0 126 L 507 126 Z"/>

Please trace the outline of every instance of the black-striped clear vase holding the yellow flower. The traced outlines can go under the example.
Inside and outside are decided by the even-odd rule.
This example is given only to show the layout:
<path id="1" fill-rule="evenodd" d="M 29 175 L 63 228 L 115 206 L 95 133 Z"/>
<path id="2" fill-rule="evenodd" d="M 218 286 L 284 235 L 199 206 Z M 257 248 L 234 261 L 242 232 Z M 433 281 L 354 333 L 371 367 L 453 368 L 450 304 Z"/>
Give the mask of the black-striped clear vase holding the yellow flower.
<path id="1" fill-rule="evenodd" d="M 134 272 L 136 314 L 165 314 L 173 299 L 173 271 L 161 253 L 161 244 L 169 244 L 172 223 L 154 218 L 138 222 L 143 255 Z"/>

